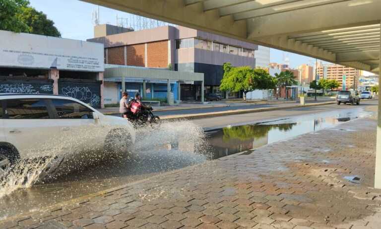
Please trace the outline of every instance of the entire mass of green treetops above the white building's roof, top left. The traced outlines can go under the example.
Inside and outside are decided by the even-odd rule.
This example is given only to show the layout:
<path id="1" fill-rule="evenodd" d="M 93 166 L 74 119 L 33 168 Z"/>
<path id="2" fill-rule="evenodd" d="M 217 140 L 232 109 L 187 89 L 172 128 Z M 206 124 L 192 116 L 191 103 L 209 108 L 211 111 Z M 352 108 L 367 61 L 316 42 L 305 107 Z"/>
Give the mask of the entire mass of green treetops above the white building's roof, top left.
<path id="1" fill-rule="evenodd" d="M 61 37 L 54 22 L 27 0 L 0 0 L 0 29 Z"/>

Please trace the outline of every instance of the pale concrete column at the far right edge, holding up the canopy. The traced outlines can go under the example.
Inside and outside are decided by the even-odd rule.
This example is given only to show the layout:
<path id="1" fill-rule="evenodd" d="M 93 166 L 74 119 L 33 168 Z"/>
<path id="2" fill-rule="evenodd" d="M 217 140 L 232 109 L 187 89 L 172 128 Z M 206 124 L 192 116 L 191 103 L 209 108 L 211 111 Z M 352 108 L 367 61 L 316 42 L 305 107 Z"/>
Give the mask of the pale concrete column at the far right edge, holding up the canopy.
<path id="1" fill-rule="evenodd" d="M 381 41 L 380 41 L 381 44 Z M 381 49 L 379 60 L 379 76 L 381 76 Z M 379 84 L 381 77 L 379 77 Z M 377 123 L 377 139 L 376 139 L 376 167 L 375 167 L 375 188 L 381 188 L 381 99 L 379 98 L 378 109 L 378 123 Z"/>

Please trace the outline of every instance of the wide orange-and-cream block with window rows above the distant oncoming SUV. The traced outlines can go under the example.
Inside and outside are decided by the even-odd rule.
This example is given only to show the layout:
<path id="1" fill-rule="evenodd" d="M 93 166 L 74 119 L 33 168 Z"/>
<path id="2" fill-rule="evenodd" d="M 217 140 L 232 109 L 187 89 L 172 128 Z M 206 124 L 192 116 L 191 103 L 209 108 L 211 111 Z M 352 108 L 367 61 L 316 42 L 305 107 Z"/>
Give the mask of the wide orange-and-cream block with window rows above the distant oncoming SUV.
<path id="1" fill-rule="evenodd" d="M 345 67 L 336 64 L 319 64 L 317 74 L 325 79 L 336 79 L 340 86 L 339 90 L 343 89 L 343 77 L 345 76 L 344 89 L 357 89 L 360 76 L 360 70 Z"/>

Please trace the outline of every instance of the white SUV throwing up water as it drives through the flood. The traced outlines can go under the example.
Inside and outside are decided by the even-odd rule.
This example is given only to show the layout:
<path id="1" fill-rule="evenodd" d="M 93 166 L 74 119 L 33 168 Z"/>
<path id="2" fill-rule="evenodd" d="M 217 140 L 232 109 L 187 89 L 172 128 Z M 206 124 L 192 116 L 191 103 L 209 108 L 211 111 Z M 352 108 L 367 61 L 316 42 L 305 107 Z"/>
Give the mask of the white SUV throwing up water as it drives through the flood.
<path id="1" fill-rule="evenodd" d="M 135 142 L 129 121 L 66 96 L 0 94 L 0 178 L 18 159 L 109 153 Z"/>

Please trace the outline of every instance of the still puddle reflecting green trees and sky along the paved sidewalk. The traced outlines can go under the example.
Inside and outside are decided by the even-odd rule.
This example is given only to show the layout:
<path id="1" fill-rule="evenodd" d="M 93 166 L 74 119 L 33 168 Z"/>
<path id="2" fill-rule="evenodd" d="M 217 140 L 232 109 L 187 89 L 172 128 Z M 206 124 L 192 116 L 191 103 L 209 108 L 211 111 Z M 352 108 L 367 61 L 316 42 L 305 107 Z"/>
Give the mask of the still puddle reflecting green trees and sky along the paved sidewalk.
<path id="1" fill-rule="evenodd" d="M 296 116 L 294 118 L 266 121 L 244 126 L 227 126 L 206 132 L 208 142 L 213 147 L 212 159 L 234 153 L 253 150 L 267 144 L 283 141 L 303 134 L 319 134 L 317 131 L 334 127 L 337 124 L 368 116 L 369 112 L 354 109 L 341 112 L 324 112 L 314 115 Z M 345 131 L 353 131 L 340 129 Z M 351 147 L 351 146 L 348 146 Z M 329 152 L 322 149 L 320 152 Z M 245 152 L 250 154 L 252 152 Z"/>

